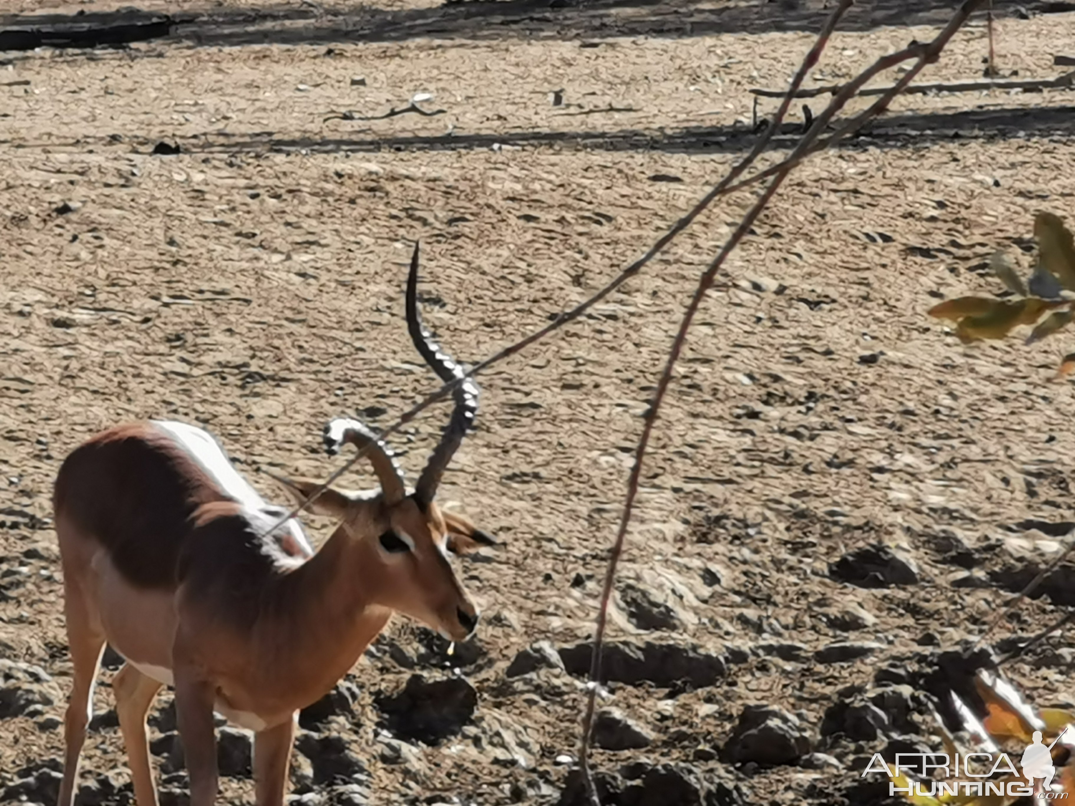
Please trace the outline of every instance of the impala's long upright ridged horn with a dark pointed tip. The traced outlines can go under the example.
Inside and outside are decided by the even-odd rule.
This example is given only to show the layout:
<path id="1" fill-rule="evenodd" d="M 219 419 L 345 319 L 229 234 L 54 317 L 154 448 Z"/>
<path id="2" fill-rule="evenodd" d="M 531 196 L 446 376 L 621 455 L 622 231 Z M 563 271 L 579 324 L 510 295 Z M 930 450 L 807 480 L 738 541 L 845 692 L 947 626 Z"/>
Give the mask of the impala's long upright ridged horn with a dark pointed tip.
<path id="1" fill-rule="evenodd" d="M 441 349 L 441 346 L 433 341 L 432 334 L 421 323 L 421 315 L 418 313 L 417 243 L 414 245 L 411 274 L 406 280 L 406 327 L 414 346 L 441 380 L 447 384 L 463 377 L 465 374 L 463 369 Z M 415 496 L 422 504 L 428 504 L 433 500 L 445 467 L 448 466 L 453 455 L 458 450 L 463 436 L 474 426 L 474 416 L 477 414 L 478 388 L 473 378 L 467 378 L 459 384 L 453 390 L 452 397 L 456 403 L 455 408 L 452 409 L 452 419 L 448 420 L 448 426 L 441 435 L 441 442 L 418 477 L 418 484 L 415 485 Z"/>

